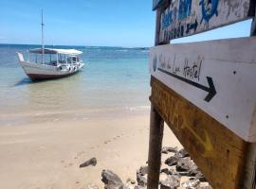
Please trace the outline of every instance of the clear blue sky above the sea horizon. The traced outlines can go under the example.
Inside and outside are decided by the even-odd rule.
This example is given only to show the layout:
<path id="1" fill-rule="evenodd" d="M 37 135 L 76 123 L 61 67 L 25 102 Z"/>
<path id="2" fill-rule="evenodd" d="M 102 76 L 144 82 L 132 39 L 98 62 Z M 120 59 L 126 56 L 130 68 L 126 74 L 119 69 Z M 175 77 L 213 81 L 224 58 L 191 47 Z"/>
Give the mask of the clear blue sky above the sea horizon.
<path id="1" fill-rule="evenodd" d="M 41 9 L 46 44 L 154 45 L 152 0 L 1 0 L 0 43 L 41 43 Z M 248 36 L 250 23 L 248 20 L 174 43 Z"/>

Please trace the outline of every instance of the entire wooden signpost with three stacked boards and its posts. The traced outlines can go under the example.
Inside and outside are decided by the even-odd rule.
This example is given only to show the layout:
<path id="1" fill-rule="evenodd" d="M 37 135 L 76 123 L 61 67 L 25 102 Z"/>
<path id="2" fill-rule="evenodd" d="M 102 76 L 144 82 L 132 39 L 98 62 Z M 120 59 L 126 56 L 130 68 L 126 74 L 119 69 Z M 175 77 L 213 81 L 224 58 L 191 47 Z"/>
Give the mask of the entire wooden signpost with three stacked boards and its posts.
<path id="1" fill-rule="evenodd" d="M 255 35 L 255 4 L 154 1 L 148 189 L 158 188 L 163 122 L 213 188 L 256 188 L 256 38 L 168 44 L 250 17 Z"/>

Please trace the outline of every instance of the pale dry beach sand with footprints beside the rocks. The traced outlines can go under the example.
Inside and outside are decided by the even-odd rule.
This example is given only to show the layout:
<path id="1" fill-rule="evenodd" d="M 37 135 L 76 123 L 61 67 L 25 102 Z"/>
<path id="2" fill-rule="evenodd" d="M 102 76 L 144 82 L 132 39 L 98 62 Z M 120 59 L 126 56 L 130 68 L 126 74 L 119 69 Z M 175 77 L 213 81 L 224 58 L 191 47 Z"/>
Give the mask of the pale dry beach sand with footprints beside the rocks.
<path id="1" fill-rule="evenodd" d="M 0 127 L 0 188 L 103 188 L 102 169 L 136 180 L 148 140 L 149 113 Z M 168 127 L 163 146 L 181 147 Z M 96 166 L 79 167 L 92 157 Z"/>

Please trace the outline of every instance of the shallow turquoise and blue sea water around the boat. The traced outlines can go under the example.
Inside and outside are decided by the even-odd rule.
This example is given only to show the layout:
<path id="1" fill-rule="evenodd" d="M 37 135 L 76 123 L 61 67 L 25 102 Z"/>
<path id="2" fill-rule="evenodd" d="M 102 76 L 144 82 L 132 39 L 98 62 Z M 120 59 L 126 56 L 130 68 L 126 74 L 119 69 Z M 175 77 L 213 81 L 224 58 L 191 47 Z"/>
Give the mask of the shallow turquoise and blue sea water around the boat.
<path id="1" fill-rule="evenodd" d="M 149 110 L 149 49 L 54 46 L 81 50 L 83 70 L 70 77 L 32 82 L 16 52 L 26 58 L 27 50 L 35 47 L 39 46 L 0 44 L 0 126 Z"/>

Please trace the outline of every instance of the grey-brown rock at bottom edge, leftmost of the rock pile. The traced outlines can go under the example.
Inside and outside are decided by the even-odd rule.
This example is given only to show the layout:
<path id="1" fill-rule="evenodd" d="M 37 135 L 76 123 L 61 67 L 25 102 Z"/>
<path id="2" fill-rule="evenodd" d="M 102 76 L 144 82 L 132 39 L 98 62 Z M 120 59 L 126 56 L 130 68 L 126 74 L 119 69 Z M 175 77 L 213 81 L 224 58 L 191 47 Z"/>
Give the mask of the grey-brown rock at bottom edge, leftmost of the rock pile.
<path id="1" fill-rule="evenodd" d="M 105 189 L 116 189 L 123 185 L 119 176 L 110 170 L 102 170 L 101 177 L 105 184 Z"/>

